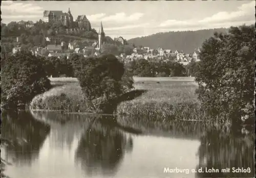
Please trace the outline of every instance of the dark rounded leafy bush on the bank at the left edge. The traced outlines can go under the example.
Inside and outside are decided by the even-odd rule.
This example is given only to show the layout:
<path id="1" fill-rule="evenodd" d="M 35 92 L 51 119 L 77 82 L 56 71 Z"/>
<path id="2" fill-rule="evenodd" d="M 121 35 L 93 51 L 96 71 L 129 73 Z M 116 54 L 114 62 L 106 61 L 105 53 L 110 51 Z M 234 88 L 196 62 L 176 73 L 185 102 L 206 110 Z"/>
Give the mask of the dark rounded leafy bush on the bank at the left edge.
<path id="1" fill-rule="evenodd" d="M 1 105 L 4 108 L 25 107 L 31 99 L 51 88 L 40 60 L 22 51 L 1 61 Z"/>

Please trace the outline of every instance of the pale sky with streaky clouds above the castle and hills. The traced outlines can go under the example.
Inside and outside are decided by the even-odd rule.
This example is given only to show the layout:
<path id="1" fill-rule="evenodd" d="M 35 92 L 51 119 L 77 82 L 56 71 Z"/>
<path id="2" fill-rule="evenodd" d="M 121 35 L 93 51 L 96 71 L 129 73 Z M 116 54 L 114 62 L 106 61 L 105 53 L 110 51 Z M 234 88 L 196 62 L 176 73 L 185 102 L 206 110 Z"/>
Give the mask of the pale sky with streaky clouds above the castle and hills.
<path id="1" fill-rule="evenodd" d="M 159 32 L 228 28 L 255 23 L 255 1 L 2 1 L 2 22 L 42 19 L 44 10 L 86 15 L 106 36 L 125 39 Z"/>

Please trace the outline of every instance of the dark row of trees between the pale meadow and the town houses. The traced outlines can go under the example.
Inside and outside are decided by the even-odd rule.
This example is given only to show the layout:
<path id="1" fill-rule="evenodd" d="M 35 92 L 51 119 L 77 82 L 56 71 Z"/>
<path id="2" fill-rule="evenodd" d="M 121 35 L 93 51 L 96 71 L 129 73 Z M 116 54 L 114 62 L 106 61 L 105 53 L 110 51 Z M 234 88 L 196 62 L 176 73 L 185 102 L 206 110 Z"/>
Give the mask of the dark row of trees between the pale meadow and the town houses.
<path id="1" fill-rule="evenodd" d="M 92 58 L 95 57 L 92 56 Z M 66 56 L 61 58 L 40 57 L 42 67 L 46 71 L 48 77 L 75 77 L 73 68 L 77 65 L 76 61 L 79 60 L 86 60 L 86 58 L 78 54 L 72 54 L 69 58 Z M 124 63 L 125 69 L 129 70 L 131 75 L 139 77 L 184 77 L 189 74 L 194 77 L 198 63 L 191 62 L 189 65 L 184 66 L 178 62 L 154 62 L 145 59 L 121 62 Z M 189 69 L 190 71 L 188 71 Z"/>

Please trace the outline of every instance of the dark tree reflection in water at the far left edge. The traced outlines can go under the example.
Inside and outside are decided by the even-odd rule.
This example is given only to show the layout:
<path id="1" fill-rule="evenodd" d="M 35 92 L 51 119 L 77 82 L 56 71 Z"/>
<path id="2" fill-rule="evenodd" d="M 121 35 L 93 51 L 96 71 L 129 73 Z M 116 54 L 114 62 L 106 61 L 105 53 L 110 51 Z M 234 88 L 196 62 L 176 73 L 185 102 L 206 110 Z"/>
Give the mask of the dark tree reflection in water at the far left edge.
<path id="1" fill-rule="evenodd" d="M 15 162 L 31 163 L 49 133 L 49 125 L 36 121 L 29 112 L 2 113 L 1 138 L 11 141 L 6 154 Z"/>

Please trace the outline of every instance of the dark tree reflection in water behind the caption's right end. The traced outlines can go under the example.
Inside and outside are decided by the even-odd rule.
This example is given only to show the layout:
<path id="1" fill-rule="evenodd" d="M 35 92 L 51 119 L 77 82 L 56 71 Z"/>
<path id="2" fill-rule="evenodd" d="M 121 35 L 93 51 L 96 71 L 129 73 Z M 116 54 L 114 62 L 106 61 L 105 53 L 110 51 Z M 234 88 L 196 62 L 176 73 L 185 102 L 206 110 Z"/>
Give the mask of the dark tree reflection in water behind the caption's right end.
<path id="1" fill-rule="evenodd" d="M 254 176 L 254 132 L 223 133 L 208 130 L 201 137 L 198 168 L 219 169 L 219 173 L 198 173 L 197 177 L 253 177 Z M 250 168 L 250 173 L 233 173 L 232 167 Z M 230 168 L 229 173 L 221 169 Z"/>

